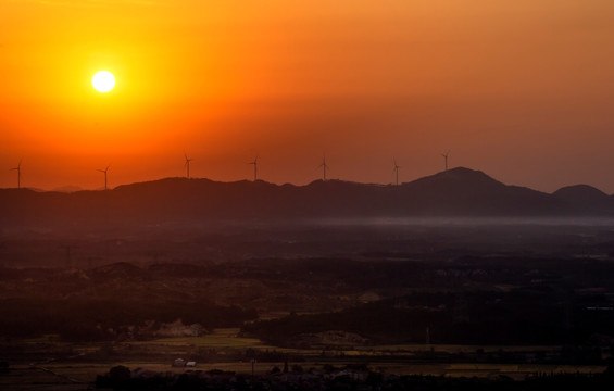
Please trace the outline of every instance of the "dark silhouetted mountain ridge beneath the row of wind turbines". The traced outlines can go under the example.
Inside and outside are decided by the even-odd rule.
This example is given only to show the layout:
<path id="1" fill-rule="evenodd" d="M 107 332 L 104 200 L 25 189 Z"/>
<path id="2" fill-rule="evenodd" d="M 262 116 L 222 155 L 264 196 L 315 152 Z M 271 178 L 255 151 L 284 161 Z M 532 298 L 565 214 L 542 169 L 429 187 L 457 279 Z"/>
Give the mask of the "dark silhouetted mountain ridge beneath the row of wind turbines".
<path id="1" fill-rule="evenodd" d="M 0 190 L 0 228 L 84 223 L 186 224 L 214 220 L 411 216 L 604 216 L 614 199 L 590 187 L 554 194 L 454 168 L 400 186 L 316 180 L 218 182 L 165 178 L 109 191 Z"/>

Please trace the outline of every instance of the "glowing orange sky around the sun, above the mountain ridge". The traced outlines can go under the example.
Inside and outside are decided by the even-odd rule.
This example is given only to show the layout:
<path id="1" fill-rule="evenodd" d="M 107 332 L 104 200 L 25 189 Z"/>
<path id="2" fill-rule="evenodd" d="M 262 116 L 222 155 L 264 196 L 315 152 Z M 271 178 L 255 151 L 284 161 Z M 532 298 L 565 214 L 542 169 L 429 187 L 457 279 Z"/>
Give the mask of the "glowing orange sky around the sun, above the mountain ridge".
<path id="1" fill-rule="evenodd" d="M 91 76 L 117 80 L 102 94 Z M 0 187 L 184 174 L 614 192 L 611 0 L 0 0 Z M 3 167 L 3 168 L 2 168 Z"/>

